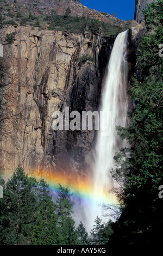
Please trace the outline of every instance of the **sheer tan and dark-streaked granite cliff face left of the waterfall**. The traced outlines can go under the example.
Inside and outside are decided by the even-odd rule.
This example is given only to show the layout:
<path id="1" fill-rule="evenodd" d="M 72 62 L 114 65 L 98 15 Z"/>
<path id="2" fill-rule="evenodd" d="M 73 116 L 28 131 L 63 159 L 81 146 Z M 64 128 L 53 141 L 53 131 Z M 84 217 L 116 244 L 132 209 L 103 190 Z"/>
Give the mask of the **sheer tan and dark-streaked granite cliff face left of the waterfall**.
<path id="1" fill-rule="evenodd" d="M 10 46 L 5 35 L 15 33 Z M 1 29 L 8 85 L 3 91 L 1 172 L 86 170 L 94 131 L 54 131 L 54 111 L 95 111 L 115 36 L 65 34 L 26 27 Z M 79 66 L 82 56 L 91 56 Z"/>

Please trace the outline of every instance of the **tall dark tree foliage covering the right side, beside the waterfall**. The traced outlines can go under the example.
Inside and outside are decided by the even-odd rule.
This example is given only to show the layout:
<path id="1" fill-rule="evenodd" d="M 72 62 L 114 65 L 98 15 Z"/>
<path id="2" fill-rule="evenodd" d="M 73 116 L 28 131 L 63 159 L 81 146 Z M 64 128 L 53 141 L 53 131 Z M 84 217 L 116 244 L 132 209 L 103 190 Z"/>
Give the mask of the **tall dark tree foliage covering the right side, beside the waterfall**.
<path id="1" fill-rule="evenodd" d="M 162 202 L 158 197 L 158 187 L 163 184 L 163 77 L 162 58 L 158 54 L 163 40 L 162 14 L 162 0 L 143 10 L 147 31 L 137 54 L 137 74 L 129 88 L 135 108 L 129 113 L 129 126 L 117 127 L 118 135 L 127 139 L 130 147 L 115 155 L 117 168 L 112 176 L 120 184 L 117 197 L 124 207 L 113 237 L 126 245 L 150 245 L 159 241 L 159 229 L 163 225 Z"/>

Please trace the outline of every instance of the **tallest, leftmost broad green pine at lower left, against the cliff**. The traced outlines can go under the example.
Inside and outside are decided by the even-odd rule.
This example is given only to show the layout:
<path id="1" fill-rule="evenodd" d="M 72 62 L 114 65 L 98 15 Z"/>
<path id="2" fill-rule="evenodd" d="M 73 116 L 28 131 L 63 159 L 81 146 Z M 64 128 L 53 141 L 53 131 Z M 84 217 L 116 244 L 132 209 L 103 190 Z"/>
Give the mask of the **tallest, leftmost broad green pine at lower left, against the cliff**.
<path id="1" fill-rule="evenodd" d="M 35 221 L 35 185 L 36 180 L 28 178 L 20 165 L 8 180 L 4 191 L 5 245 L 29 244 L 30 231 Z"/>

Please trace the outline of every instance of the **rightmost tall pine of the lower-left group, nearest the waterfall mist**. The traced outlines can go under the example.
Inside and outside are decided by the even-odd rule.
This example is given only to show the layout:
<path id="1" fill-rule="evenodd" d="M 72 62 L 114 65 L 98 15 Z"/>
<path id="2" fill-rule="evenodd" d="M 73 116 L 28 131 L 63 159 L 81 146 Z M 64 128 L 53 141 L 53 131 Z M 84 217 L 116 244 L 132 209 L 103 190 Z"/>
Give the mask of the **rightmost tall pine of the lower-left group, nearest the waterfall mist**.
<path id="1" fill-rule="evenodd" d="M 55 209 L 58 216 L 60 245 L 78 245 L 75 222 L 72 218 L 72 200 L 70 190 L 59 184 L 59 193 L 55 202 Z"/>

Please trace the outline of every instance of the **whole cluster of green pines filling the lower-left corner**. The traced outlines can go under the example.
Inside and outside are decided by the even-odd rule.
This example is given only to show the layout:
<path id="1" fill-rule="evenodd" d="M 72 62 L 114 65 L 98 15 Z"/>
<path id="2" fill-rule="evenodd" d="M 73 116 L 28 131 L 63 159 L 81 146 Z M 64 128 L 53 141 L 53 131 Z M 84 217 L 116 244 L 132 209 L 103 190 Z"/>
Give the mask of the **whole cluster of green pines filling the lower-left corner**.
<path id="1" fill-rule="evenodd" d="M 0 245 L 80 244 L 68 188 L 59 185 L 54 203 L 47 182 L 29 177 L 20 165 L 6 183 L 0 176 L 0 185 Z"/>

